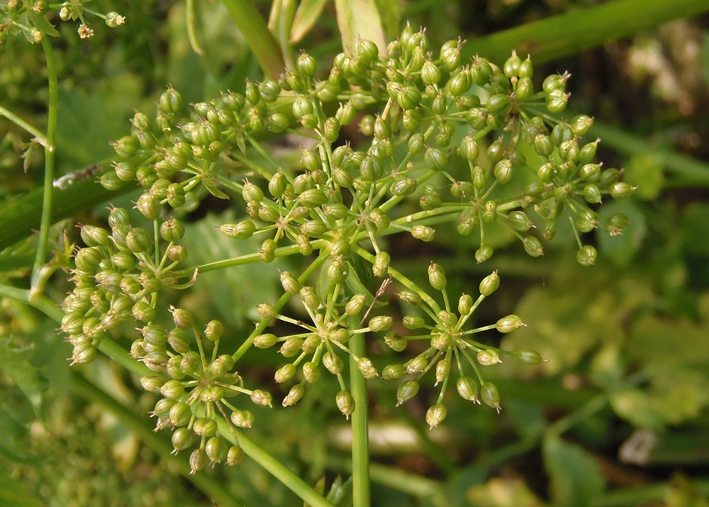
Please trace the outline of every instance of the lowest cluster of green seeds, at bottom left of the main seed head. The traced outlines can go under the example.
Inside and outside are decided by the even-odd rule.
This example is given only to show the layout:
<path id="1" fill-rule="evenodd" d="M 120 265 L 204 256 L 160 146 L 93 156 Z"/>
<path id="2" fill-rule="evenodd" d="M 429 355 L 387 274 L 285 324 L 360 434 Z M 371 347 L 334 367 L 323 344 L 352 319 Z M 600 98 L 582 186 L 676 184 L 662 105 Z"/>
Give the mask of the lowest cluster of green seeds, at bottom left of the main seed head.
<path id="1" fill-rule="evenodd" d="M 130 349 L 134 357 L 156 372 L 140 379 L 147 391 L 163 396 L 153 411 L 157 417 L 156 429 L 172 428 L 175 453 L 199 442 L 189 457 L 192 473 L 208 463 L 239 464 L 244 452 L 238 444 L 230 445 L 220 434 L 218 420 L 225 420 L 230 440 L 238 442 L 235 428 L 250 428 L 254 416 L 248 410 L 237 408 L 229 399 L 241 394 L 259 406 L 271 406 L 271 395 L 260 389 L 245 389 L 238 372 L 231 371 L 233 358 L 218 354 L 224 330 L 220 321 L 208 322 L 200 332 L 191 313 L 172 307 L 170 311 L 174 329 L 167 331 L 160 325 L 146 325 L 140 329 L 141 338 L 135 340 Z M 192 350 L 190 334 L 194 336 L 197 350 Z M 159 362 L 147 360 L 156 356 L 162 359 Z"/>

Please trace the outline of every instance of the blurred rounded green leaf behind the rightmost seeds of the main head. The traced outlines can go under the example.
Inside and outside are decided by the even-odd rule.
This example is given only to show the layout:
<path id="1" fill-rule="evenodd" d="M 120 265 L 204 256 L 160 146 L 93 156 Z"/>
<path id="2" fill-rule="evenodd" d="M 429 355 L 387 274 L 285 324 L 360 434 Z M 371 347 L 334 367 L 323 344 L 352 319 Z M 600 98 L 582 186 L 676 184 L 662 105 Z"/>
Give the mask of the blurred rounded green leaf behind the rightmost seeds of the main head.
<path id="1" fill-rule="evenodd" d="M 604 204 L 598 210 L 603 216 L 623 213 L 630 219 L 630 225 L 623 229 L 623 234 L 609 236 L 605 230 L 599 228 L 596 233 L 601 257 L 608 257 L 618 267 L 628 267 L 635 258 L 642 241 L 647 234 L 645 216 L 632 201 L 613 201 Z"/>

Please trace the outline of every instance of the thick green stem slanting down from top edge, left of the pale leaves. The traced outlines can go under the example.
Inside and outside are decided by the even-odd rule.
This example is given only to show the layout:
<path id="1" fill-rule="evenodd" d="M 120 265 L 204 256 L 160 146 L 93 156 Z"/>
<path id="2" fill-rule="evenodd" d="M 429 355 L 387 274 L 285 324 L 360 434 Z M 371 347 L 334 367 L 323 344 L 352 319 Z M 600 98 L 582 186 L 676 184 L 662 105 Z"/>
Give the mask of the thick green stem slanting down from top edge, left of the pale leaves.
<path id="1" fill-rule="evenodd" d="M 281 48 L 252 2 L 249 0 L 222 1 L 254 53 L 264 74 L 272 79 L 284 74 L 286 64 Z"/>

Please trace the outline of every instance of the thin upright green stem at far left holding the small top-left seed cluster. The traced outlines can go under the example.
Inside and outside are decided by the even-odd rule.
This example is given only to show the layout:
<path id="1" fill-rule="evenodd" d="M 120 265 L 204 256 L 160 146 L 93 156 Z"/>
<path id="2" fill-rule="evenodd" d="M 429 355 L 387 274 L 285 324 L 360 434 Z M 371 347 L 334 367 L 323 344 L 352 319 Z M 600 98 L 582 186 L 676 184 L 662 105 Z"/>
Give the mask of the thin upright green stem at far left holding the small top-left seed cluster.
<path id="1" fill-rule="evenodd" d="M 52 226 L 52 184 L 54 184 L 54 138 L 57 130 L 57 69 L 54 65 L 52 45 L 48 38 L 42 39 L 42 49 L 47 60 L 47 75 L 49 80 L 49 109 L 47 118 L 47 137 L 45 144 L 45 179 L 42 198 L 42 218 L 40 221 L 40 237 L 37 243 L 35 264 L 32 268 L 32 284 L 38 277 L 40 269 L 45 264 L 49 229 Z"/>

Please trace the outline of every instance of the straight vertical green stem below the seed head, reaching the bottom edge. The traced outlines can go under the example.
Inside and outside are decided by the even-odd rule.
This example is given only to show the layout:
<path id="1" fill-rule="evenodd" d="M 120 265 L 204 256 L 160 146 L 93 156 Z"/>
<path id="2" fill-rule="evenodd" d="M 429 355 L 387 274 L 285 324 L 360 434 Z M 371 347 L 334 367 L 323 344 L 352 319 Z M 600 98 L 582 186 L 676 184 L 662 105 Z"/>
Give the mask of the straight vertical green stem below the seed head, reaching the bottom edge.
<path id="1" fill-rule="evenodd" d="M 357 322 L 351 323 L 357 326 Z M 352 413 L 352 491 L 354 507 L 369 507 L 369 418 L 367 411 L 367 380 L 357 368 L 354 356 L 364 356 L 364 335 L 350 338 L 350 388 L 354 399 Z"/>

